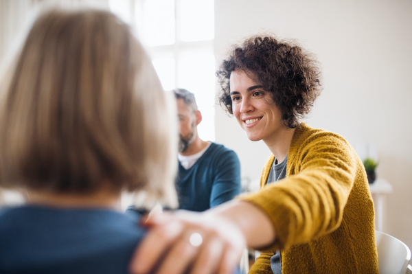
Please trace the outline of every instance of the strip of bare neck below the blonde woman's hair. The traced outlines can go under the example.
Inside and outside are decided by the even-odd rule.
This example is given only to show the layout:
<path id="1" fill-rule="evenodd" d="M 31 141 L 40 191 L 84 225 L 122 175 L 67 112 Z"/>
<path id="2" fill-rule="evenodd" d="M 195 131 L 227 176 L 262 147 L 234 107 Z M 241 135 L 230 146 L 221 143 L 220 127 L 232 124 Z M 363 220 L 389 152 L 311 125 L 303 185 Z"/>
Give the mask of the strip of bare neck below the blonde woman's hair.
<path id="1" fill-rule="evenodd" d="M 87 194 L 55 193 L 28 190 L 29 204 L 46 205 L 52 207 L 89 207 L 107 208 L 121 210 L 120 193 L 113 191 L 112 187 L 102 187 L 102 189 Z"/>

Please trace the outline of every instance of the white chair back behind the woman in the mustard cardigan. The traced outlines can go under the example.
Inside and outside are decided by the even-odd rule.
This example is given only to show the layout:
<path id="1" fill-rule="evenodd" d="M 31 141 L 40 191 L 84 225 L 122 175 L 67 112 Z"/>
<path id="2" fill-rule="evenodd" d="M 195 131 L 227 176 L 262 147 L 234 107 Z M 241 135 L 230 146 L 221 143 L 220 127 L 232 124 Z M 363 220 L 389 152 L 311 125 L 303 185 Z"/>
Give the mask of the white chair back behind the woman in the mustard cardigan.
<path id="1" fill-rule="evenodd" d="M 380 274 L 405 274 L 411 260 L 406 244 L 386 233 L 375 231 Z"/>

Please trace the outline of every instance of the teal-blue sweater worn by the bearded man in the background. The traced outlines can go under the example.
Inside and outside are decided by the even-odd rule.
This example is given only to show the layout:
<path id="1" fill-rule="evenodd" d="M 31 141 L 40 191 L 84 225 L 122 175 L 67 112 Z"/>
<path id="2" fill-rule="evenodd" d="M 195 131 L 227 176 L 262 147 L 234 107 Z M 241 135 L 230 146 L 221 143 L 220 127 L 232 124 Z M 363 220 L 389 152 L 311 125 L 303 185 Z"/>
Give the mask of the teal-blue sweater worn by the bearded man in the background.
<path id="1" fill-rule="evenodd" d="M 211 143 L 194 165 L 179 163 L 176 178 L 179 208 L 203 212 L 240 194 L 240 162 L 233 150 Z"/>

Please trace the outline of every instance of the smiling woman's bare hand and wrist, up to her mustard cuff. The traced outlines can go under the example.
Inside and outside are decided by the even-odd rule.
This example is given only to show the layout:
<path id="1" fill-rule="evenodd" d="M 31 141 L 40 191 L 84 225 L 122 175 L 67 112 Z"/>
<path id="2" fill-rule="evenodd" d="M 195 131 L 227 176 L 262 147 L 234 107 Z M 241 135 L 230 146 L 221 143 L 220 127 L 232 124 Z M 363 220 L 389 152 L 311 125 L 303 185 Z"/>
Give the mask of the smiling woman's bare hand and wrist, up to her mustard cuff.
<path id="1" fill-rule="evenodd" d="M 203 213 L 178 211 L 146 220 L 150 227 L 130 264 L 133 274 L 233 273 L 244 247 L 275 241 L 268 216 L 249 202 L 231 201 Z M 199 246 L 190 243 L 201 234 Z"/>

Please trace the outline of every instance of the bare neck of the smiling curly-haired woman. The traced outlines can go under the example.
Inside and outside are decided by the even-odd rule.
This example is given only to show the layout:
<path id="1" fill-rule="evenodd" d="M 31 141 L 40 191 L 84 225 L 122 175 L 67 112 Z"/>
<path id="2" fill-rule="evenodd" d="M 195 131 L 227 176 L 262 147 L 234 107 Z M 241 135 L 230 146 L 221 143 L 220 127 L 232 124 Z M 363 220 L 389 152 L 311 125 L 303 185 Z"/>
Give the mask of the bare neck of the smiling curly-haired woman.
<path id="1" fill-rule="evenodd" d="M 286 127 L 279 130 L 276 135 L 269 139 L 264 139 L 264 144 L 268 146 L 269 150 L 275 155 L 277 161 L 282 163 L 286 156 L 288 156 L 290 144 L 292 143 L 293 135 L 296 128 Z"/>

